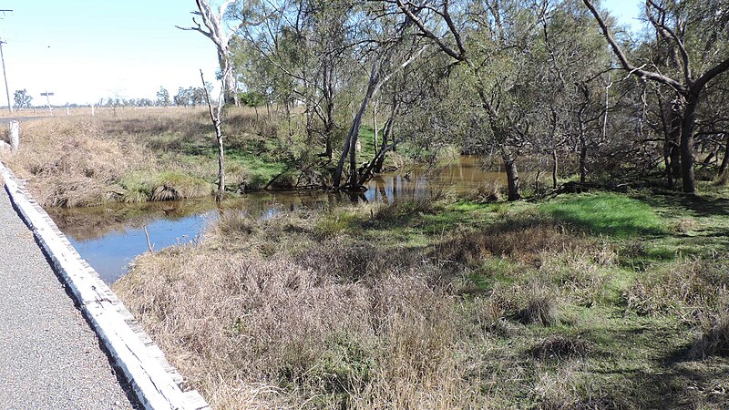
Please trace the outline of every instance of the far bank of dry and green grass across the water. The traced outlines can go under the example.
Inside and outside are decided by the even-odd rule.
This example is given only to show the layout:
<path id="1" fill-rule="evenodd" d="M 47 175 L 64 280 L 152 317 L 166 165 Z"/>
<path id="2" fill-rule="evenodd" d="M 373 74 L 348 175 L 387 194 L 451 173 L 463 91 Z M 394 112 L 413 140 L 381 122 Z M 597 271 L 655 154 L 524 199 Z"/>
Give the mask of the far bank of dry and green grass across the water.
<path id="1" fill-rule="evenodd" d="M 23 122 L 22 148 L 0 154 L 44 206 L 202 198 L 213 192 L 217 150 L 204 109 L 74 114 Z M 227 189 L 261 190 L 289 168 L 288 151 L 277 142 L 271 118 L 257 118 L 251 108 L 230 108 L 228 115 Z"/>

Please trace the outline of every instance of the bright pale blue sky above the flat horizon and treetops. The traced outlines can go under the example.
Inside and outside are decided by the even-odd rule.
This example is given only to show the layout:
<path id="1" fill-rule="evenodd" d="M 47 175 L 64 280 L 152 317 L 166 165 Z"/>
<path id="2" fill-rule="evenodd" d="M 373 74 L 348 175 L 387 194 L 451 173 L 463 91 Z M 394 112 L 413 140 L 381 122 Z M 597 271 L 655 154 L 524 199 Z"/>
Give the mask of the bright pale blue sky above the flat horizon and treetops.
<path id="1" fill-rule="evenodd" d="M 214 1 L 213 1 L 214 3 Z M 622 24 L 636 23 L 640 0 L 603 0 Z M 99 98 L 155 98 L 159 87 L 215 82 L 215 46 L 189 26 L 194 0 L 0 0 L 7 83 L 36 105 L 93 104 Z M 0 86 L 2 90 L 2 86 Z M 0 106 L 5 105 L 4 90 Z"/>

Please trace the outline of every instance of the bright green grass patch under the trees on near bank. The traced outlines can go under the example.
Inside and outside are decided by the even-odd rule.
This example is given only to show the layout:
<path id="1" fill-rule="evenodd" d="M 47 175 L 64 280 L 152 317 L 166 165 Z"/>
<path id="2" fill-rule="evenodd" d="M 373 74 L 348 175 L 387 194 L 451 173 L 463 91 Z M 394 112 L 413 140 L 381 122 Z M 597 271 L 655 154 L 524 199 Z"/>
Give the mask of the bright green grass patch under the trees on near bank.
<path id="1" fill-rule="evenodd" d="M 621 195 L 582 194 L 547 203 L 540 209 L 596 235 L 625 238 L 665 234 L 661 219 L 650 205 Z"/>

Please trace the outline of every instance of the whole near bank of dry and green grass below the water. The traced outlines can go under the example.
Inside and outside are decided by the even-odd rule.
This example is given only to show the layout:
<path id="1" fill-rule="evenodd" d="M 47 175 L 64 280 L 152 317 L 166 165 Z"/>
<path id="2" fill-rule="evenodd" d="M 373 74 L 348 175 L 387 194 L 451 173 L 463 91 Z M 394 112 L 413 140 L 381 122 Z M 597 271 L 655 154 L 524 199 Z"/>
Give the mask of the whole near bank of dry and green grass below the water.
<path id="1" fill-rule="evenodd" d="M 217 408 L 724 408 L 727 235 L 724 189 L 231 211 L 115 289 Z"/>

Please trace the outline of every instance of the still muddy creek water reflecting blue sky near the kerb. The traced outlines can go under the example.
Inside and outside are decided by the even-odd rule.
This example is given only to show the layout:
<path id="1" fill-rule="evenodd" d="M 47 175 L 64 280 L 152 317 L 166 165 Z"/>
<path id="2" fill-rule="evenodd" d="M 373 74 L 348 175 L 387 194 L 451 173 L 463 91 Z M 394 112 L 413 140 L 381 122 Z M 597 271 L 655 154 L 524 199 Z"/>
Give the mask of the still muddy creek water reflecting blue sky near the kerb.
<path id="1" fill-rule="evenodd" d="M 384 173 L 372 179 L 361 195 L 324 191 L 256 192 L 226 201 L 224 207 L 241 210 L 252 218 L 268 218 L 298 210 L 324 210 L 342 203 L 385 202 L 418 198 L 432 190 L 457 194 L 476 190 L 484 182 L 504 182 L 502 172 L 486 170 L 477 157 L 464 156 L 437 169 L 411 168 Z M 110 204 L 96 208 L 51 210 L 68 240 L 105 282 L 127 272 L 128 263 L 148 250 L 195 241 L 218 215 L 213 200 L 150 202 L 141 205 Z"/>

